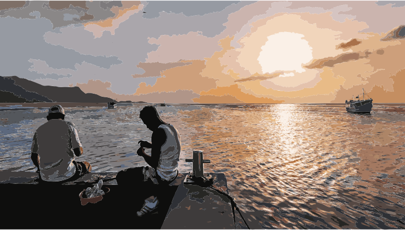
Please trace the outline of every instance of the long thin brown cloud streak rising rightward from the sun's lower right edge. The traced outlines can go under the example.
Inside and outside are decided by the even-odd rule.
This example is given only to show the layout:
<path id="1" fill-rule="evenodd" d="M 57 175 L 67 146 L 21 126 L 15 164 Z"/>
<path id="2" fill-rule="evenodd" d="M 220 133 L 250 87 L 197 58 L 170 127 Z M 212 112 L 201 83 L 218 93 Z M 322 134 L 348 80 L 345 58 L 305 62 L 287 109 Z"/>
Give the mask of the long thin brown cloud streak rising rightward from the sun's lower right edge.
<path id="1" fill-rule="evenodd" d="M 368 58 L 370 56 L 370 54 L 372 54 L 372 52 L 369 52 L 369 50 L 366 50 L 364 52 L 344 53 L 344 54 L 340 54 L 336 57 L 328 57 L 328 58 L 313 60 L 311 64 L 305 65 L 304 67 L 310 68 L 310 69 L 321 69 L 322 67 L 325 67 L 325 66 L 334 67 L 336 64 L 340 64 L 343 62 L 355 61 L 360 58 Z"/>

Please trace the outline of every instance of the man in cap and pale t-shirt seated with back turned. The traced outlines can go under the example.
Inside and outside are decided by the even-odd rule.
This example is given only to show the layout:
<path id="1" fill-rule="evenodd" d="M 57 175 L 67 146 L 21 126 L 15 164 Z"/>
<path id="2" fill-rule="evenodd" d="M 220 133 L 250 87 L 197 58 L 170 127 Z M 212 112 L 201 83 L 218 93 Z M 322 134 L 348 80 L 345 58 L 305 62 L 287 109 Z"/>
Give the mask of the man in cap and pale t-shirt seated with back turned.
<path id="1" fill-rule="evenodd" d="M 32 138 L 31 160 L 43 181 L 66 181 L 91 172 L 87 162 L 75 162 L 83 154 L 82 144 L 73 123 L 64 121 L 60 105 L 48 110 L 48 122 L 39 126 Z"/>

